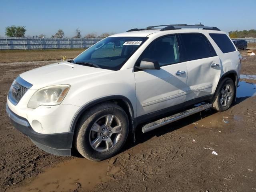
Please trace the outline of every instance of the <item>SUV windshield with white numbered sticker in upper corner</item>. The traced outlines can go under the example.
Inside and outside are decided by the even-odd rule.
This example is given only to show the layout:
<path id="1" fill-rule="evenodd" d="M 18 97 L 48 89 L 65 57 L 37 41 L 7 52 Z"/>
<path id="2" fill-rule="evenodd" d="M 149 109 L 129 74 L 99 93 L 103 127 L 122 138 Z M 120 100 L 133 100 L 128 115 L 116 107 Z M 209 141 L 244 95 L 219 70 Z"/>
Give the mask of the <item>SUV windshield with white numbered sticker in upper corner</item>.
<path id="1" fill-rule="evenodd" d="M 103 69 L 120 70 L 147 37 L 108 37 L 82 52 L 73 62 Z"/>

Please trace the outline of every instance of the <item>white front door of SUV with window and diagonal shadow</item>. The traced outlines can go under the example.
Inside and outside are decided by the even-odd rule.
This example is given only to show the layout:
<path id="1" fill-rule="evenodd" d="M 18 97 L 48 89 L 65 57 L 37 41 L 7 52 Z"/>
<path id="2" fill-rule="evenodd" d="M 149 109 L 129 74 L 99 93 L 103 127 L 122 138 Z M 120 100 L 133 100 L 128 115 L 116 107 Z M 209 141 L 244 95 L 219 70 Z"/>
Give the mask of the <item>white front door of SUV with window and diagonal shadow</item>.
<path id="1" fill-rule="evenodd" d="M 186 99 L 187 67 L 180 62 L 175 35 L 154 40 L 142 53 L 140 60 L 157 60 L 160 70 L 135 71 L 137 116 L 182 104 Z"/>

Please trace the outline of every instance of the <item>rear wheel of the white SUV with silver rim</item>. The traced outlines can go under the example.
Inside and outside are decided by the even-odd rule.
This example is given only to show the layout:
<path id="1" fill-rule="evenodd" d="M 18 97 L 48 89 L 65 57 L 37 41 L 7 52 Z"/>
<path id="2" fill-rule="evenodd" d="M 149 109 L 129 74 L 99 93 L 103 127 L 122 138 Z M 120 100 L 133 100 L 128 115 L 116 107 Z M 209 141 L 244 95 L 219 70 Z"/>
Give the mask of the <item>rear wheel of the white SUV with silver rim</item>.
<path id="1" fill-rule="evenodd" d="M 229 85 L 229 86 L 228 86 Z M 235 84 L 232 79 L 224 78 L 218 85 L 212 108 L 218 112 L 226 111 L 230 108 L 235 96 Z"/>

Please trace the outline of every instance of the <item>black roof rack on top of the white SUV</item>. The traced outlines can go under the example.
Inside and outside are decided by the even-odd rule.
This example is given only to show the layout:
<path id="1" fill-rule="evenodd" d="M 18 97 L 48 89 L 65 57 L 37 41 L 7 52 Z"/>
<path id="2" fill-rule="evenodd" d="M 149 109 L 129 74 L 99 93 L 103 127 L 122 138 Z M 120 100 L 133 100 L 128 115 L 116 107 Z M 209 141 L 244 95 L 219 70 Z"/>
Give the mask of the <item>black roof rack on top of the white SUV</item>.
<path id="1" fill-rule="evenodd" d="M 165 27 L 164 27 L 165 26 Z M 164 27 L 164 28 L 156 28 L 156 27 Z M 168 24 L 168 25 L 156 25 L 156 26 L 148 26 L 146 28 L 138 29 L 130 29 L 126 32 L 130 31 L 142 31 L 142 30 L 152 30 L 152 29 L 160 29 L 160 31 L 166 31 L 166 30 L 175 30 L 175 29 L 184 29 L 184 28 L 201 28 L 201 29 L 207 29 L 207 30 L 216 30 L 220 31 L 217 27 L 208 27 L 204 26 L 202 24 L 195 24 L 195 25 L 188 25 L 188 24 Z"/>

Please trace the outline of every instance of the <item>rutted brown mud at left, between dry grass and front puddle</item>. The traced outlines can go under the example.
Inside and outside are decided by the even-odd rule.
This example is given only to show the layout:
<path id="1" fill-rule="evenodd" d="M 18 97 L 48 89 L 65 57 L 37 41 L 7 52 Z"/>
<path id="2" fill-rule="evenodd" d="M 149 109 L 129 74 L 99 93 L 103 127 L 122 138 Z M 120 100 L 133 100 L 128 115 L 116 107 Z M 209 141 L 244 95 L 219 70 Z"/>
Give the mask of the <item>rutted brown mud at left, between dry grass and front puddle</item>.
<path id="1" fill-rule="evenodd" d="M 6 115 L 6 97 L 18 74 L 54 61 L 0 63 L 0 191 L 39 174 L 45 167 L 70 158 L 53 156 L 37 148 L 26 136 L 12 128 Z"/>

